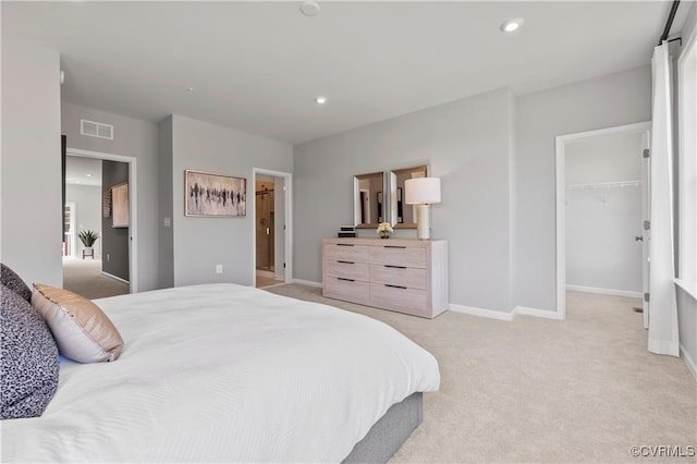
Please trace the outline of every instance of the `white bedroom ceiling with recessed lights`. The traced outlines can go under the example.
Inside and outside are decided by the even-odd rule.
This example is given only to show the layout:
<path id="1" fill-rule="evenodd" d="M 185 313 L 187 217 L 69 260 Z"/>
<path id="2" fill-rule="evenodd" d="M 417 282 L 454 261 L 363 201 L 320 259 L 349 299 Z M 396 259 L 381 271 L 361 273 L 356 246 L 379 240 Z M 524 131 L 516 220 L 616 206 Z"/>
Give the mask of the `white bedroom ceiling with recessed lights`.
<path id="1" fill-rule="evenodd" d="M 65 101 L 299 143 L 494 88 L 522 95 L 646 65 L 671 7 L 319 4 L 308 17 L 299 1 L 2 1 L 2 37 L 61 52 Z M 503 34 L 509 17 L 525 24 Z M 328 102 L 317 105 L 318 95 Z"/>

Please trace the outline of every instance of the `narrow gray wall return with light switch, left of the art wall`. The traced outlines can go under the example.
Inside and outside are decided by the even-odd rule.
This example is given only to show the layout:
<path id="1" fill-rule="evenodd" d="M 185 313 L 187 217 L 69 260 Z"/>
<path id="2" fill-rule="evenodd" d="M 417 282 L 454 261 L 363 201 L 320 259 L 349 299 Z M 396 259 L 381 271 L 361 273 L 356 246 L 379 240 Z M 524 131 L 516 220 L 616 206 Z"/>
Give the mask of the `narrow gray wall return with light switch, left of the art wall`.
<path id="1" fill-rule="evenodd" d="M 159 130 L 159 215 L 158 215 L 158 261 L 159 286 L 174 286 L 174 234 L 172 216 L 172 117 L 158 125 Z M 167 220 L 169 219 L 169 225 Z"/>

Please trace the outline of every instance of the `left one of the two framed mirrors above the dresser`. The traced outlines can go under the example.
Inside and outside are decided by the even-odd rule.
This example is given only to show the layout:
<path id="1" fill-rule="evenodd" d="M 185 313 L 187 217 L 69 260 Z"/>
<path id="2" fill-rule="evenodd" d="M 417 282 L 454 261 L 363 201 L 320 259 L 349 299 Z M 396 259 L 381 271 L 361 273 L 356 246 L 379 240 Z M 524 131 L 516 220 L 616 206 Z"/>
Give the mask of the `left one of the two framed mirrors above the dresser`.
<path id="1" fill-rule="evenodd" d="M 354 175 L 354 225 L 358 229 L 377 228 L 387 221 L 387 192 L 384 172 Z"/>

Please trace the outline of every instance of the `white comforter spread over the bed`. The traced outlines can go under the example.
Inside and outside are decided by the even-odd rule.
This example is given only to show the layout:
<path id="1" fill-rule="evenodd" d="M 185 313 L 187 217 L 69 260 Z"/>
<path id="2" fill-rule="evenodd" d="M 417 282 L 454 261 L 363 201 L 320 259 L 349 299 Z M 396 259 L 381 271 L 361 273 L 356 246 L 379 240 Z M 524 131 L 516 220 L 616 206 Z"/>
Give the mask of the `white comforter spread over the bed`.
<path id="1" fill-rule="evenodd" d="M 123 354 L 63 364 L 41 417 L 2 422 L 3 462 L 338 462 L 439 387 L 428 352 L 326 305 L 234 284 L 95 303 Z"/>

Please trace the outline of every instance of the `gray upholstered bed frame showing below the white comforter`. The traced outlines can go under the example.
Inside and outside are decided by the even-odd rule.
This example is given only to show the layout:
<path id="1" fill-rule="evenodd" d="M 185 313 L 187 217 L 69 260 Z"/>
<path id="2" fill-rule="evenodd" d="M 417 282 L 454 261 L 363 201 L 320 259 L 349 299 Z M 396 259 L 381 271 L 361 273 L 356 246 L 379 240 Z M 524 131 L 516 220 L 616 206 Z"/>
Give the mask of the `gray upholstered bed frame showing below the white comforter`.
<path id="1" fill-rule="evenodd" d="M 353 447 L 343 463 L 387 463 L 421 424 L 424 398 L 416 392 L 393 404 Z"/>

